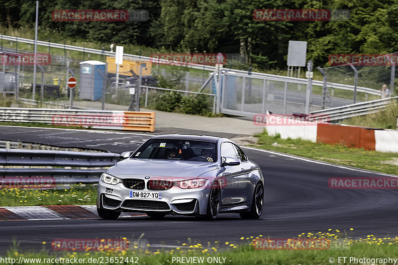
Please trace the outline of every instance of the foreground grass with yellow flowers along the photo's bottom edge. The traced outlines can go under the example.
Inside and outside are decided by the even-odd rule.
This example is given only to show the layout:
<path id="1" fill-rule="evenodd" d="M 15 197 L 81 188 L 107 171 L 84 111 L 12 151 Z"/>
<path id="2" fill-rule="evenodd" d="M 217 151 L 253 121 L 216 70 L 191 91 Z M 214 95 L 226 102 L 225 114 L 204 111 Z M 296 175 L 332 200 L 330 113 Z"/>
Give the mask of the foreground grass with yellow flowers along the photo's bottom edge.
<path id="1" fill-rule="evenodd" d="M 329 229 L 331 230 L 331 229 Z M 335 230 L 338 231 L 338 230 Z M 334 231 L 332 231 L 334 232 Z M 334 232 L 336 233 L 336 232 Z M 333 233 L 308 233 L 300 236 L 308 236 L 311 239 L 333 239 Z M 198 262 L 176 262 L 176 258 L 184 257 L 190 259 L 196 257 L 203 259 L 199 264 L 230 264 L 230 265 L 260 265 L 260 264 L 395 264 L 398 254 L 398 238 L 377 238 L 369 235 L 364 239 L 341 238 L 346 243 L 346 247 L 339 250 L 255 250 L 253 245 L 257 240 L 263 240 L 263 236 L 256 238 L 242 237 L 238 243 L 231 242 L 207 242 L 207 246 L 199 243 L 184 243 L 173 249 L 156 249 L 148 244 L 136 247 L 124 237 L 128 244 L 124 250 L 112 250 L 108 248 L 90 249 L 86 251 L 51 251 L 54 245 L 51 242 L 43 242 L 43 249 L 40 252 L 18 252 L 15 244 L 6 254 L 9 259 L 22 261 L 23 264 L 93 264 L 100 261 L 101 264 L 128 264 L 137 263 L 141 265 L 161 265 L 161 264 L 197 264 Z M 296 238 L 297 239 L 297 238 Z M 266 240 L 269 240 L 268 238 Z M 101 240 L 101 242 L 106 239 Z M 340 260 L 339 260 L 340 257 Z M 347 257 L 344 262 L 341 257 Z M 61 260 L 55 259 L 61 258 Z M 350 260 L 351 259 L 357 259 Z M 390 260 L 389 260 L 390 258 Z M 32 260 L 36 259 L 36 260 Z M 40 259 L 40 260 L 39 260 Z M 46 260 L 54 259 L 54 260 Z M 80 260 L 79 260 L 80 259 Z M 365 260 L 360 260 L 365 259 Z M 369 260 L 367 260 L 369 259 Z M 376 260 L 377 259 L 377 260 Z M 380 260 L 386 259 L 386 260 Z M 219 261 L 219 262 L 216 262 Z M 12 264 L 5 262 L 4 264 Z M 15 262 L 14 262 L 15 264 Z"/>

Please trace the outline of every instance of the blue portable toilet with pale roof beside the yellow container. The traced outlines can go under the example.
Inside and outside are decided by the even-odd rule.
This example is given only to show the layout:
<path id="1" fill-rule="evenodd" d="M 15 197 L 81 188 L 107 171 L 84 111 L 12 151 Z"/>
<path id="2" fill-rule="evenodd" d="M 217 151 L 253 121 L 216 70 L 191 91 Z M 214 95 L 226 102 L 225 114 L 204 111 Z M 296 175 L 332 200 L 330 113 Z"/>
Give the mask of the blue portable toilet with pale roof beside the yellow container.
<path id="1" fill-rule="evenodd" d="M 94 60 L 80 63 L 80 98 L 91 100 L 102 98 L 103 77 L 97 70 L 100 70 L 106 76 L 105 63 Z"/>

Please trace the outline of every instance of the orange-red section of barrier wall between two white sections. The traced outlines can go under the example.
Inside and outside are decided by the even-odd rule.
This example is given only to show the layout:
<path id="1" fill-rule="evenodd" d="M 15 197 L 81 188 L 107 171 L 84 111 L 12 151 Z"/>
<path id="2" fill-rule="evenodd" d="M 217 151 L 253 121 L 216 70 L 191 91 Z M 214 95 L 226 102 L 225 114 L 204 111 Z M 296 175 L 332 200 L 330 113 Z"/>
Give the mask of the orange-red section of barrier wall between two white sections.
<path id="1" fill-rule="evenodd" d="M 343 144 L 353 148 L 375 150 L 375 131 L 357 126 L 319 123 L 317 128 L 318 143 Z"/>

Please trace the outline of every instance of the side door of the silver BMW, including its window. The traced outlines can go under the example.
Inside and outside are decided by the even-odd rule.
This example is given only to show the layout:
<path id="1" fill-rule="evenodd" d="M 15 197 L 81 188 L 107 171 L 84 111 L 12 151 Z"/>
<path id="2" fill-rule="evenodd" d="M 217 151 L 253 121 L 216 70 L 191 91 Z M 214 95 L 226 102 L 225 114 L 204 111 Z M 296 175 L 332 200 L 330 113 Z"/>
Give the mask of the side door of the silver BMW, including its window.
<path id="1" fill-rule="evenodd" d="M 235 147 L 230 142 L 221 144 L 221 160 L 225 157 L 238 159 Z M 240 165 L 224 166 L 221 183 L 221 202 L 222 206 L 237 205 L 245 201 L 245 171 Z"/>

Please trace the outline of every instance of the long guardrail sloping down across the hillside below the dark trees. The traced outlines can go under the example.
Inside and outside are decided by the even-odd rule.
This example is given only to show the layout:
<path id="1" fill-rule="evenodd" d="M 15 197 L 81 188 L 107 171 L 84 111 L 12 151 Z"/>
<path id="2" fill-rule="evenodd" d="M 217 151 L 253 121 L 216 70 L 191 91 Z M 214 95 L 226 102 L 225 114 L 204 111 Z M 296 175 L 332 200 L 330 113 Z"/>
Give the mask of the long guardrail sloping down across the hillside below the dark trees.
<path id="1" fill-rule="evenodd" d="M 11 36 L 6 36 L 6 35 L 0 35 L 0 38 L 2 40 L 18 41 L 18 42 L 22 42 L 22 43 L 34 44 L 34 40 L 31 40 L 31 39 L 16 38 L 16 37 L 11 37 Z M 72 45 L 64 45 L 64 44 L 60 44 L 60 43 L 53 43 L 53 42 L 46 42 L 46 41 L 37 41 L 37 45 L 51 47 L 51 48 L 67 49 L 67 50 L 71 50 L 71 51 L 100 54 L 100 55 L 105 55 L 105 56 L 115 56 L 114 52 L 108 52 L 108 51 L 102 51 L 102 50 L 84 48 L 84 47 L 72 46 Z M 162 59 L 154 59 L 151 57 L 145 57 L 145 56 L 139 56 L 139 55 L 133 55 L 133 54 L 124 54 L 124 56 L 131 57 L 133 59 L 152 60 L 153 63 L 182 65 L 182 66 L 193 68 L 193 69 L 199 69 L 199 70 L 205 70 L 205 71 L 211 71 L 211 72 L 214 72 L 216 70 L 216 68 L 214 66 L 210 66 L 210 65 L 181 64 L 181 62 L 173 62 L 173 61 L 167 61 L 167 60 L 162 60 Z M 232 71 L 237 74 L 247 75 L 247 71 L 236 70 L 236 69 L 230 69 L 229 71 Z M 263 78 L 267 78 L 272 81 L 307 84 L 307 80 L 302 79 L 302 78 L 277 76 L 277 75 L 270 75 L 270 74 L 263 74 L 263 73 L 256 73 L 256 72 L 251 73 L 251 76 L 263 77 Z M 354 86 L 342 85 L 342 84 L 337 84 L 337 83 L 327 83 L 327 84 L 328 84 L 328 87 L 330 87 L 330 88 L 338 88 L 338 89 L 354 91 Z M 323 82 L 314 80 L 314 81 L 312 81 L 312 85 L 322 87 Z M 380 90 L 372 89 L 372 88 L 365 88 L 365 87 L 357 87 L 357 92 L 365 92 L 365 93 L 369 93 L 369 94 L 380 95 Z"/>

